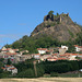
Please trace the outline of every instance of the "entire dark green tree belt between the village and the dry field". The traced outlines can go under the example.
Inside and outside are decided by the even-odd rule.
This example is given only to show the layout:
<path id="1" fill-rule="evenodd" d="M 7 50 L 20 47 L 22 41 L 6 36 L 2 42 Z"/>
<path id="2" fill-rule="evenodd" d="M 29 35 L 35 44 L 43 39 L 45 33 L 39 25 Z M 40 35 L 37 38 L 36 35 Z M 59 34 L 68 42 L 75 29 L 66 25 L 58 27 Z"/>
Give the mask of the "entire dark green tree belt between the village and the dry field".
<path id="1" fill-rule="evenodd" d="M 59 77 L 59 73 L 78 71 L 82 69 L 82 61 L 77 61 L 77 60 L 75 61 L 68 61 L 68 60 L 47 61 L 46 60 L 40 63 L 38 62 L 36 63 L 36 72 L 37 72 L 37 77 L 36 77 L 33 61 L 35 61 L 35 59 L 30 59 L 24 62 L 14 65 L 19 70 L 19 73 L 14 75 L 14 78 L 39 78 L 43 77 L 45 73 L 50 74 L 50 77 Z M 0 78 L 8 78 L 10 73 L 0 70 L 0 75 L 1 75 Z"/>

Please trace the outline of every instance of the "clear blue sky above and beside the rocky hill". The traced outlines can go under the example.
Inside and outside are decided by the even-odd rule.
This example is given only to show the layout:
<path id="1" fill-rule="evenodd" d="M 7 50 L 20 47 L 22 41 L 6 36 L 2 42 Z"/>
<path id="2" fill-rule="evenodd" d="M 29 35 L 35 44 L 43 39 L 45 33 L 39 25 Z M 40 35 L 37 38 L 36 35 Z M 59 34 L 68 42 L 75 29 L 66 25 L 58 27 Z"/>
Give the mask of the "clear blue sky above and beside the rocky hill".
<path id="1" fill-rule="evenodd" d="M 82 0 L 0 0 L 0 48 L 30 36 L 50 10 L 82 25 Z"/>

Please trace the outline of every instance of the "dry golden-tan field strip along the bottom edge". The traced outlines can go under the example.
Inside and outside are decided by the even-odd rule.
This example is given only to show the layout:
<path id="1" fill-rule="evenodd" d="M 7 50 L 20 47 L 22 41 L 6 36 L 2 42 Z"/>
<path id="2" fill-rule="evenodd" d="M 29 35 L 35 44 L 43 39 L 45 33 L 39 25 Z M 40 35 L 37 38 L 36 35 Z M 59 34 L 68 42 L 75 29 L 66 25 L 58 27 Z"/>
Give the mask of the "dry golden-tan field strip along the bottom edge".
<path id="1" fill-rule="evenodd" d="M 82 82 L 82 78 L 0 79 L 0 82 Z"/>

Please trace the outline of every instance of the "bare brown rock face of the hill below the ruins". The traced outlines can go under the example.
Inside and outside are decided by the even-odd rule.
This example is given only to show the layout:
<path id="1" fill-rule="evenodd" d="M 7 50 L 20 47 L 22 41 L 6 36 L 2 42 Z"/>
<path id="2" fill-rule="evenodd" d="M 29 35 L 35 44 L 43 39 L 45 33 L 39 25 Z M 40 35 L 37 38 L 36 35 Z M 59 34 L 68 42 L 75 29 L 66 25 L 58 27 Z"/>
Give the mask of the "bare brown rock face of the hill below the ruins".
<path id="1" fill-rule="evenodd" d="M 50 36 L 60 42 L 75 39 L 81 27 L 74 24 L 69 14 L 46 15 L 44 22 L 35 27 L 31 37 L 39 38 L 43 35 Z"/>

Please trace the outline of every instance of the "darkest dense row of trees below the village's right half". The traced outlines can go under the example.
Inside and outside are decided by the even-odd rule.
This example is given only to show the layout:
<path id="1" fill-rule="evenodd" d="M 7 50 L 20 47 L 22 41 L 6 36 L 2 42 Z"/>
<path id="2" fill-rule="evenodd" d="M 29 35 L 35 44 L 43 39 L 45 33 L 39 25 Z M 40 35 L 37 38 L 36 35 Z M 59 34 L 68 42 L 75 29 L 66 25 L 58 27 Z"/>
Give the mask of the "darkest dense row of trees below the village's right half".
<path id="1" fill-rule="evenodd" d="M 50 74 L 51 72 L 65 73 L 65 72 L 75 71 L 80 69 L 78 61 L 66 61 L 66 60 L 45 61 L 43 62 L 43 66 L 45 69 L 45 73 L 48 74 Z"/>

